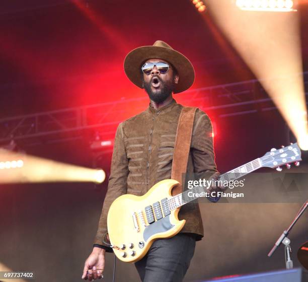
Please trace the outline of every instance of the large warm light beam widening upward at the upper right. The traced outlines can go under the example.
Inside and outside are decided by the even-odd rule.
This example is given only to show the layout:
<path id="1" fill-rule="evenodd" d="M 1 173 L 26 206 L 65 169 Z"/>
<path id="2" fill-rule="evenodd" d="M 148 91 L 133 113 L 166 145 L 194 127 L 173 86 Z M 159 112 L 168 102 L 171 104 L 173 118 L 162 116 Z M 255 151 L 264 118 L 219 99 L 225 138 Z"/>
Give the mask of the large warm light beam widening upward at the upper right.
<path id="1" fill-rule="evenodd" d="M 241 11 L 228 0 L 209 0 L 208 10 L 260 80 L 301 149 L 308 150 L 298 14 Z"/>

